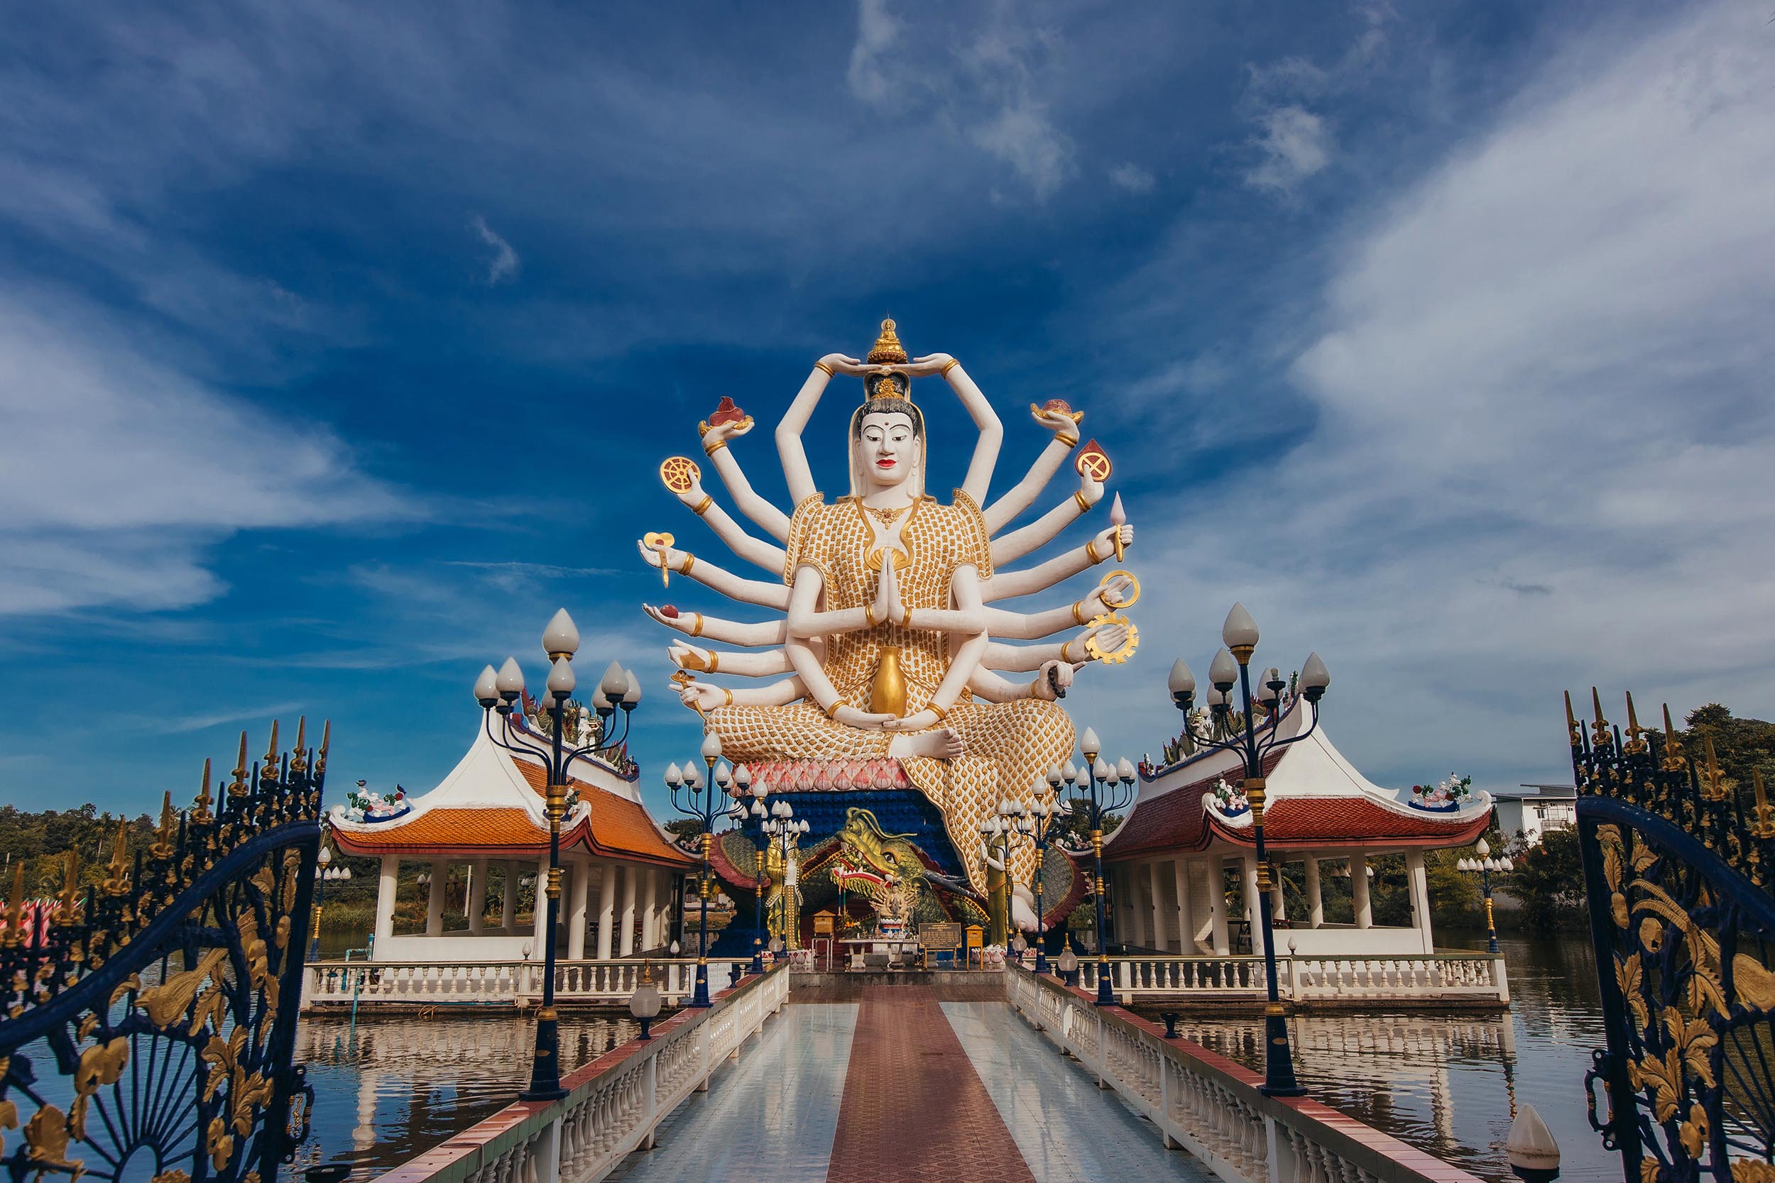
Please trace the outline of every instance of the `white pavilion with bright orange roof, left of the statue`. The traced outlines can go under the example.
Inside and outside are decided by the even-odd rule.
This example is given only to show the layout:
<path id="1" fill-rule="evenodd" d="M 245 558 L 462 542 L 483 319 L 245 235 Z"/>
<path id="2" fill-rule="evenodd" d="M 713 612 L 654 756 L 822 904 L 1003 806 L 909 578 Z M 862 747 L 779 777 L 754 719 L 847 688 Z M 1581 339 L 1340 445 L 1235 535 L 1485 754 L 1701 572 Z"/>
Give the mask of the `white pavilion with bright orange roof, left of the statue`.
<path id="1" fill-rule="evenodd" d="M 477 720 L 479 722 L 479 720 Z M 538 761 L 518 757 L 495 743 L 485 727 L 444 780 L 403 812 L 353 819 L 344 805 L 327 818 L 334 841 L 348 855 L 380 855 L 376 892 L 378 961 L 522 961 L 541 960 L 547 908 L 518 928 L 515 890 L 525 876 L 548 876 L 547 777 L 540 764 L 548 740 L 513 717 L 517 745 L 532 745 Z M 671 942 L 674 899 L 696 860 L 673 844 L 653 821 L 635 787 L 604 759 L 575 761 L 579 793 L 561 823 L 561 929 L 557 947 L 566 960 L 586 956 L 588 933 L 598 958 L 627 958 Z M 396 935 L 394 912 L 403 862 L 430 864 L 422 933 Z M 446 894 L 456 869 L 456 901 L 467 928 L 444 924 Z M 490 873 L 504 881 L 497 928 L 486 922 Z"/>

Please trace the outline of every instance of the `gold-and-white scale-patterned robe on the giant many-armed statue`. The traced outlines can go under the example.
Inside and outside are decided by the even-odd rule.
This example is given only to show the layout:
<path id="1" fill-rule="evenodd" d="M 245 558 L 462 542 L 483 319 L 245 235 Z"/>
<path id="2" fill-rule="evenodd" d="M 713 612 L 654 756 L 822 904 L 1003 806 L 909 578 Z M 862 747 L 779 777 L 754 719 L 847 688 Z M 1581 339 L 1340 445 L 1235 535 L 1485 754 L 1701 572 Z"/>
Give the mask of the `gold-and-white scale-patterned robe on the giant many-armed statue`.
<path id="1" fill-rule="evenodd" d="M 870 564 L 870 548 L 898 539 L 907 557 L 895 568 L 900 601 L 918 624 L 919 608 L 950 608 L 950 580 L 957 568 L 973 564 L 980 578 L 992 575 L 990 537 L 980 507 L 962 490 L 955 504 L 941 505 L 921 497 L 895 518 L 880 536 L 872 530 L 863 502 L 841 497 L 827 505 L 822 495 L 795 507 L 788 529 L 788 560 L 783 580 L 795 582 L 802 566 L 815 568 L 825 582 L 822 608 L 836 612 L 859 608 L 875 599 L 880 564 Z M 905 676 L 905 713 L 925 709 L 950 670 L 948 633 L 877 624 L 854 633 L 825 639 L 825 674 L 840 697 L 857 709 L 870 709 L 870 690 L 886 647 L 900 651 Z M 953 761 L 903 759 L 907 777 L 944 816 L 950 841 L 967 867 L 976 889 L 985 889 L 985 862 L 980 857 L 980 821 L 998 811 L 1005 796 L 1030 800 L 1037 786 L 1045 789 L 1047 770 L 1065 764 L 1072 754 L 1072 720 L 1054 702 L 1019 699 L 1015 702 L 980 702 L 964 690 L 950 708 L 944 725 L 962 736 L 964 754 Z M 781 759 L 852 759 L 879 757 L 896 734 L 863 731 L 832 722 L 811 701 L 792 706 L 721 706 L 708 711 L 708 727 L 721 733 L 722 756 L 733 761 Z M 1028 883 L 1035 851 L 1024 844 L 1012 855 L 1015 881 Z"/>

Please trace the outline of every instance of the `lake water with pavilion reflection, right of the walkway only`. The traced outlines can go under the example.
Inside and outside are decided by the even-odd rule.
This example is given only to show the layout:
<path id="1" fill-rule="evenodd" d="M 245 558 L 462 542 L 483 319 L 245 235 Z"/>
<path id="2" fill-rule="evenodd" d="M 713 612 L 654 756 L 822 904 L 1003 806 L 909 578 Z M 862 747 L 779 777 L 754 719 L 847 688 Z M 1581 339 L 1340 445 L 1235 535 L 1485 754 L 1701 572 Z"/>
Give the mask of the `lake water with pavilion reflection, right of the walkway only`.
<path id="1" fill-rule="evenodd" d="M 1484 936 L 1441 935 L 1452 949 Z M 1301 1015 L 1294 1069 L 1308 1096 L 1487 1179 L 1511 1179 L 1503 1140 L 1518 1101 L 1558 1139 L 1560 1179 L 1619 1179 L 1585 1116 L 1583 1073 L 1603 1046 L 1596 958 L 1582 933 L 1500 938 L 1511 974 L 1505 1015 Z M 1262 1071 L 1262 1018 L 1187 1016 L 1179 1034 Z"/>

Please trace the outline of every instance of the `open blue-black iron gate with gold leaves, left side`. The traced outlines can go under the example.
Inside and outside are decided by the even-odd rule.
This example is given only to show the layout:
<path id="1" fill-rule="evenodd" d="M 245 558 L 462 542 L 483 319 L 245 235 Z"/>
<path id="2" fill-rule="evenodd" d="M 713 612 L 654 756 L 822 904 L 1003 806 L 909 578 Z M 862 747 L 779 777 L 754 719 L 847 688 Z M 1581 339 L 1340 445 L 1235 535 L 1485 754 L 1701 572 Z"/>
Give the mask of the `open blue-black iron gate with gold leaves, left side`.
<path id="1" fill-rule="evenodd" d="M 121 823 L 105 878 L 0 933 L 0 1169 L 117 1183 L 272 1183 L 307 1137 L 291 1064 L 327 740 L 240 761 L 217 802 L 167 793 L 147 850 Z M 330 733 L 330 727 L 328 727 Z"/>

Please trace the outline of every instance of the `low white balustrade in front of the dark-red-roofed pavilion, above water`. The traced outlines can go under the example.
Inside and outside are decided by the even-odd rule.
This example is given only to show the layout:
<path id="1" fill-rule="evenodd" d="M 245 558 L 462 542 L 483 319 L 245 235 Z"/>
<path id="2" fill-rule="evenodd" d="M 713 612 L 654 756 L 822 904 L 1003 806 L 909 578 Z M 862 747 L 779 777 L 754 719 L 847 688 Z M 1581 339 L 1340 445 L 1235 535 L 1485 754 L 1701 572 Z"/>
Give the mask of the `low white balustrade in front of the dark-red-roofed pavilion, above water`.
<path id="1" fill-rule="evenodd" d="M 1053 958 L 1049 958 L 1053 965 Z M 1097 960 L 1079 960 L 1079 984 L 1097 990 Z M 1122 1000 L 1159 995 L 1264 997 L 1264 958 L 1109 958 L 1109 990 Z M 1509 1002 L 1503 958 L 1489 952 L 1379 954 L 1370 958 L 1278 956 L 1276 990 L 1294 1002 L 1409 999 Z"/>

